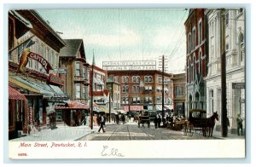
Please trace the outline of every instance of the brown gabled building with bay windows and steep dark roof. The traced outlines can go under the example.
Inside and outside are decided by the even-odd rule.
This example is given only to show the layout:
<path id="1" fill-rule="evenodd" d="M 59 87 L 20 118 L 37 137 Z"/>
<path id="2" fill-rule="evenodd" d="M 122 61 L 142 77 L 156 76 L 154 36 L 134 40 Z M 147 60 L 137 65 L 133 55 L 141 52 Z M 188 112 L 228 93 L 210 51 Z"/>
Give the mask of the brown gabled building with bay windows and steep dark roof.
<path id="1" fill-rule="evenodd" d="M 67 46 L 60 52 L 60 67 L 67 73 L 60 74 L 65 81 L 61 88 L 70 100 L 88 104 L 89 63 L 86 60 L 83 39 L 64 39 Z"/>

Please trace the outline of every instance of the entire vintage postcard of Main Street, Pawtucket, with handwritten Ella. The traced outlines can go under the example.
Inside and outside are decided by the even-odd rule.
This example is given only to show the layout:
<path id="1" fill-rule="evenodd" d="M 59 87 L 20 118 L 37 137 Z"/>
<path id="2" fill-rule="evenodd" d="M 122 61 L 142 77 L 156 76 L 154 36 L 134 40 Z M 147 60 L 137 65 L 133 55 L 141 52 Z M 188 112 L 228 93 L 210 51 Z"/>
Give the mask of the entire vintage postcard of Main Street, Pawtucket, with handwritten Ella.
<path id="1" fill-rule="evenodd" d="M 243 6 L 7 12 L 9 158 L 246 158 Z"/>

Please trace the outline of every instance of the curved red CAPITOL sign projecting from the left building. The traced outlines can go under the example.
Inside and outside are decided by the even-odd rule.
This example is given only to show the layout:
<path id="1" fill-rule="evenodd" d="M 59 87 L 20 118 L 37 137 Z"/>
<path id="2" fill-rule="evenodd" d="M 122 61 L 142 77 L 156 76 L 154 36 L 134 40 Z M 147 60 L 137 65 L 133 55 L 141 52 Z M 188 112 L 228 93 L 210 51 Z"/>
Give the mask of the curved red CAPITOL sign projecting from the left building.
<path id="1" fill-rule="evenodd" d="M 28 58 L 37 60 L 42 66 L 44 66 L 44 69 L 47 73 L 49 73 L 49 70 L 52 70 L 52 66 L 50 66 L 49 62 L 45 60 L 44 57 L 31 52 L 30 49 L 24 49 L 22 55 L 20 56 L 18 72 L 26 72 L 26 64 L 28 62 Z"/>

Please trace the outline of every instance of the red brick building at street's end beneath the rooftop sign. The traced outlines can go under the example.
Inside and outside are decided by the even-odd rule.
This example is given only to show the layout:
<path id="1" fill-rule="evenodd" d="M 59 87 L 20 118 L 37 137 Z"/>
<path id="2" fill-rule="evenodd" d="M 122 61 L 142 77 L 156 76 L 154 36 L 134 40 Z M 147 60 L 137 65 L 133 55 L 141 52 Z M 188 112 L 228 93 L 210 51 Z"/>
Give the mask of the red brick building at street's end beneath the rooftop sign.
<path id="1" fill-rule="evenodd" d="M 108 77 L 120 83 L 120 107 L 126 112 L 143 110 L 162 110 L 162 91 L 164 105 L 172 109 L 172 74 L 164 73 L 162 90 L 162 72 L 143 71 L 108 71 Z"/>

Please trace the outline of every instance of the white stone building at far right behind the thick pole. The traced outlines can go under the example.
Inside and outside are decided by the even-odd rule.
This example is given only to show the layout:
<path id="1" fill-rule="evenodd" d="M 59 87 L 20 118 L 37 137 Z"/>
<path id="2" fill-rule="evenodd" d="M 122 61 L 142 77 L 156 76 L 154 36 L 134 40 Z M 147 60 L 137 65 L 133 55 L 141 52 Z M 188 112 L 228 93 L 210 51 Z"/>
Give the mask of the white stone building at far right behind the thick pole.
<path id="1" fill-rule="evenodd" d="M 236 117 L 241 113 L 245 118 L 245 10 L 228 9 L 224 15 L 221 10 L 207 9 L 209 33 L 209 62 L 207 73 L 207 113 L 218 112 L 221 120 L 221 43 L 225 42 L 227 117 L 230 130 L 236 133 Z M 222 40 L 222 18 L 225 17 L 225 41 Z M 217 124 L 220 130 L 220 122 Z M 244 127 L 244 126 L 243 126 Z"/>

